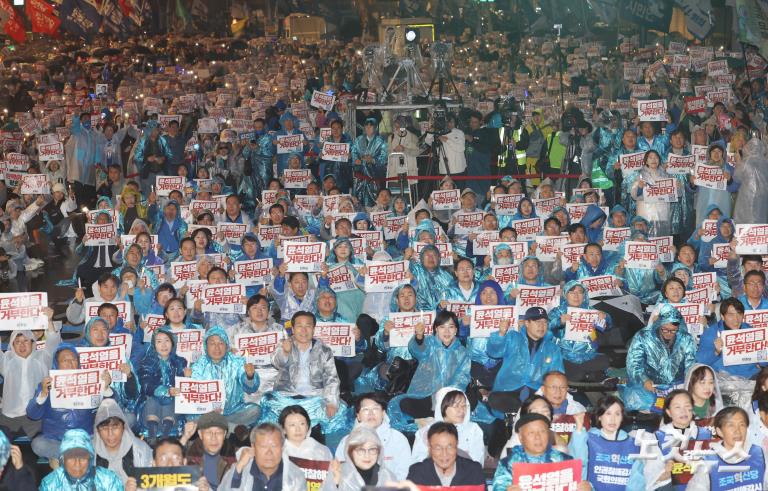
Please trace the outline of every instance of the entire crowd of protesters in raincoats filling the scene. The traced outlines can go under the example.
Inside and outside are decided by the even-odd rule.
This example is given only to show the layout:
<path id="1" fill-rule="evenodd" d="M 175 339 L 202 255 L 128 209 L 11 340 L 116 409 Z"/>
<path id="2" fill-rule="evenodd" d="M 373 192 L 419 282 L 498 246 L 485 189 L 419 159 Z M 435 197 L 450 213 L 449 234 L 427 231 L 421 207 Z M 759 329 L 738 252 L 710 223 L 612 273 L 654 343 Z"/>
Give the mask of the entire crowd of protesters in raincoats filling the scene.
<path id="1" fill-rule="evenodd" d="M 77 266 L 58 280 L 71 291 L 63 331 L 81 336 L 62 341 L 49 308 L 47 327 L 12 332 L 0 486 L 37 486 L 25 437 L 51 469 L 44 490 L 140 489 L 134 469 L 182 465 L 201 490 L 303 490 L 302 459 L 330 462 L 329 490 L 516 490 L 513 464 L 571 459 L 579 489 L 768 484 L 766 348 L 742 363 L 724 353 L 729 330 L 763 329 L 748 331 L 751 353 L 768 328 L 765 60 L 633 39 L 449 40 L 463 103 L 445 128 L 427 111 L 354 110 L 383 90 L 361 87 L 360 43 L 258 39 L 233 56 L 210 40 L 147 41 L 152 57 L 8 63 L 0 288 L 73 246 Z M 558 42 L 567 105 L 548 56 Z M 325 109 L 318 92 L 334 97 Z M 647 120 L 637 99 L 666 112 Z M 290 135 L 300 146 L 283 152 Z M 327 143 L 346 153 L 327 158 Z M 690 169 L 669 165 L 689 155 Z M 436 185 L 418 179 L 426 169 Z M 49 188 L 24 193 L 34 174 Z M 181 185 L 164 189 L 166 176 Z M 663 182 L 673 192 L 654 199 Z M 432 188 L 458 200 L 441 206 Z M 94 241 L 91 224 L 114 236 Z M 300 241 L 325 244 L 319 264 L 285 260 Z M 656 242 L 650 265 L 629 252 Z M 238 263 L 261 259 L 268 275 L 244 283 Z M 371 288 L 373 267 L 401 261 L 399 285 Z M 208 308 L 204 286 L 228 284 L 246 285 L 240 305 Z M 514 315 L 478 335 L 473 306 Z M 350 325 L 351 351 L 332 349 L 323 323 Z M 189 330 L 199 351 L 177 352 Z M 268 362 L 237 347 L 270 332 Z M 103 372 L 100 404 L 54 407 L 49 370 L 77 370 L 78 349 L 116 339 L 129 354 Z M 223 404 L 178 413 L 179 377 L 222 380 Z"/>

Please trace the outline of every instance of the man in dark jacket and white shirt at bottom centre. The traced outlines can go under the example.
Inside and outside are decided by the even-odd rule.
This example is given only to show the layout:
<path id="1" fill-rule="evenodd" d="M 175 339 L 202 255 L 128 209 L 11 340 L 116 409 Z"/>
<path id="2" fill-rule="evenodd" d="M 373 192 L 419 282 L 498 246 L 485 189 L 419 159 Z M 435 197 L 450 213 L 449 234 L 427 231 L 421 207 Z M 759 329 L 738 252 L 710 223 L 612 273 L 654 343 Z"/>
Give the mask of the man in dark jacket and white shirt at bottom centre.
<path id="1" fill-rule="evenodd" d="M 427 441 L 429 457 L 411 466 L 409 481 L 419 486 L 485 486 L 482 466 L 458 456 L 456 426 L 443 421 L 433 424 Z"/>

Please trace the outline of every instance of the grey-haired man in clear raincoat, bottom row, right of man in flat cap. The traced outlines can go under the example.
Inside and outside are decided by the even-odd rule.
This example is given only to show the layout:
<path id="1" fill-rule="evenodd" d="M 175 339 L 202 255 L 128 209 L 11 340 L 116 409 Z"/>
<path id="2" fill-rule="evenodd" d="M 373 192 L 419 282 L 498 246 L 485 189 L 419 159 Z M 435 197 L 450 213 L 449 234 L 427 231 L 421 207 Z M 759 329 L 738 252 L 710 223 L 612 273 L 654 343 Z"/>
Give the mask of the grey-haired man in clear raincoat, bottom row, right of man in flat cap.
<path id="1" fill-rule="evenodd" d="M 306 491 L 304 471 L 285 458 L 285 437 L 274 423 L 261 423 L 251 430 L 251 446 L 240 451 L 237 464 L 221 479 L 222 491 Z"/>

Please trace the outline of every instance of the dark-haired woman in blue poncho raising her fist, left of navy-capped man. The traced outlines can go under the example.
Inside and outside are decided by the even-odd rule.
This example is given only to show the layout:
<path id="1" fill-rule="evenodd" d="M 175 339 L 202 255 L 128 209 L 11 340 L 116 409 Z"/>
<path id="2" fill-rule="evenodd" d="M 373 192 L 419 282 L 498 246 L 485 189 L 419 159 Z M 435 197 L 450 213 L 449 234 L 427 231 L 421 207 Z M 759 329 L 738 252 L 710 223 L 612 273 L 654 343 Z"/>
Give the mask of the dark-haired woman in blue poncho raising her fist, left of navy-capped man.
<path id="1" fill-rule="evenodd" d="M 432 394 L 444 387 L 466 389 L 469 384 L 469 353 L 456 337 L 458 330 L 456 314 L 446 310 L 435 317 L 431 336 L 424 335 L 424 324 L 416 325 L 415 333 L 408 342 L 408 351 L 418 366 L 408 392 L 395 396 L 389 402 L 388 413 L 394 428 L 416 431 L 414 419 L 428 418 L 434 412 Z"/>

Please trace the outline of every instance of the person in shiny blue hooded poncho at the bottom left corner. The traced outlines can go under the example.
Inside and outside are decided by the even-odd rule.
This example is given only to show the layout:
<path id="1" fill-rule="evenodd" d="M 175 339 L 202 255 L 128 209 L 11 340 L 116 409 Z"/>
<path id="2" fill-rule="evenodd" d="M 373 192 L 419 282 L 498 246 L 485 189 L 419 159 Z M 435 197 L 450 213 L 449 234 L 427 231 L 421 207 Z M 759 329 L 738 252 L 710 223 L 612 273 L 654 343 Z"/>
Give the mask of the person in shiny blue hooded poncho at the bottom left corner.
<path id="1" fill-rule="evenodd" d="M 56 455 L 62 465 L 43 478 L 41 491 L 122 491 L 120 477 L 96 463 L 96 452 L 86 431 L 64 433 Z"/>

